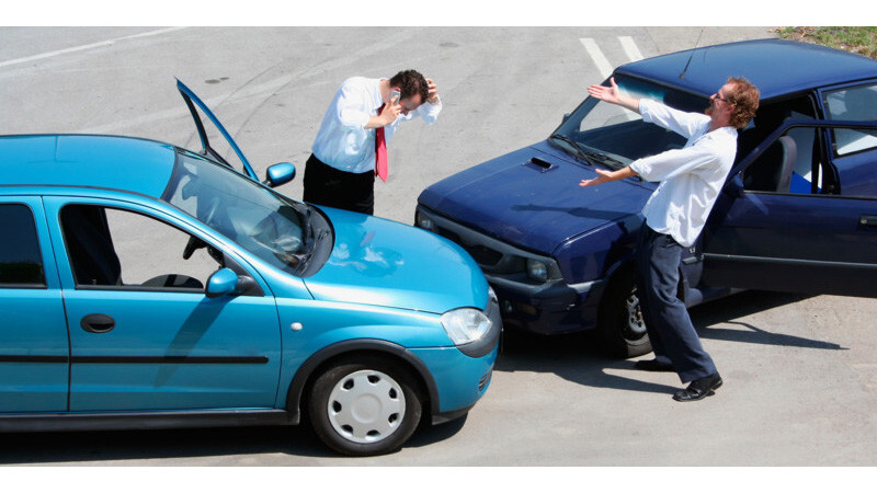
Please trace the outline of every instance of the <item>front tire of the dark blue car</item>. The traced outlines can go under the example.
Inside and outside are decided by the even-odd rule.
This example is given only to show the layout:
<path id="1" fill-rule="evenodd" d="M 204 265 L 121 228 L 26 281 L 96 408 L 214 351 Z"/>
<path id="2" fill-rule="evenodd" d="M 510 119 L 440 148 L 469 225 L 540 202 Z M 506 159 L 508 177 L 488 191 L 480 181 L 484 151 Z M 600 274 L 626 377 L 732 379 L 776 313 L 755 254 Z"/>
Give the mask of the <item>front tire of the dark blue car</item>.
<path id="1" fill-rule="evenodd" d="M 631 358 L 651 352 L 633 266 L 625 266 L 613 276 L 603 294 L 597 317 L 600 345 L 610 356 Z"/>

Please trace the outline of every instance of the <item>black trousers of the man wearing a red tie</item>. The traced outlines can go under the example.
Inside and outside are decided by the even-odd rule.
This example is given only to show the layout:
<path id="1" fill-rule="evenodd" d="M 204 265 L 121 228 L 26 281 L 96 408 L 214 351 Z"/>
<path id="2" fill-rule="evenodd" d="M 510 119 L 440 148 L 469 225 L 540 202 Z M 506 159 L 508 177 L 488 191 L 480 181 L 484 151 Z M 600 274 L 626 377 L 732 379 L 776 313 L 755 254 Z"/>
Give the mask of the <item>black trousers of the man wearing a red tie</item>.
<path id="1" fill-rule="evenodd" d="M 310 154 L 305 165 L 303 200 L 354 213 L 375 214 L 375 172 L 349 173 Z"/>

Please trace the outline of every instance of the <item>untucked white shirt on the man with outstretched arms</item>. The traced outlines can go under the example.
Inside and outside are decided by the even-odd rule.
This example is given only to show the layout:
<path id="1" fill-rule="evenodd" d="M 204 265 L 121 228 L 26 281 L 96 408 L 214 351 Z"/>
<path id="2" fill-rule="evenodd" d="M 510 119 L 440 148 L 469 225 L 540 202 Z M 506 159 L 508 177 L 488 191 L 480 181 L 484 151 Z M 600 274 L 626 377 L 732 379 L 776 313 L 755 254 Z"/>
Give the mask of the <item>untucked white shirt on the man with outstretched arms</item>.
<path id="1" fill-rule="evenodd" d="M 647 182 L 661 182 L 642 208 L 646 222 L 659 233 L 670 234 L 691 246 L 701 234 L 737 154 L 737 129 L 709 130 L 709 116 L 673 110 L 642 99 L 643 122 L 657 124 L 686 137 L 682 149 L 634 161 L 630 169 Z"/>

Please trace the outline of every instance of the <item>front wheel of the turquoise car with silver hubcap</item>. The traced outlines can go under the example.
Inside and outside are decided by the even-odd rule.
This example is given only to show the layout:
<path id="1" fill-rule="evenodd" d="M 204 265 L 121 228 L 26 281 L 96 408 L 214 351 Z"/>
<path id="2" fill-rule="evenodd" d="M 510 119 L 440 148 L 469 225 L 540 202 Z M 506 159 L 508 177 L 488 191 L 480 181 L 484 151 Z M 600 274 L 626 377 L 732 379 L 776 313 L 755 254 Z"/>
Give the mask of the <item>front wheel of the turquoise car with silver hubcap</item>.
<path id="1" fill-rule="evenodd" d="M 422 401 L 401 365 L 372 356 L 339 362 L 314 381 L 308 415 L 317 436 L 349 456 L 399 449 L 418 427 Z"/>

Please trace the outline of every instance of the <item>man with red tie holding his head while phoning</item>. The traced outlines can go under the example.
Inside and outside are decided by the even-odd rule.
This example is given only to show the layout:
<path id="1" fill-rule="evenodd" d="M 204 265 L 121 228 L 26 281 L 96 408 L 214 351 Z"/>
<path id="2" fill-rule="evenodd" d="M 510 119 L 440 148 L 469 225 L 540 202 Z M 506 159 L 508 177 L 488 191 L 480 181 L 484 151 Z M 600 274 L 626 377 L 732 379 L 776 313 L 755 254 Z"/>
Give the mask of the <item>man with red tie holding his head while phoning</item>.
<path id="1" fill-rule="evenodd" d="M 304 202 L 372 215 L 375 176 L 387 181 L 387 149 L 400 122 L 432 124 L 438 89 L 415 70 L 391 79 L 353 77 L 335 93 L 305 167 Z"/>

